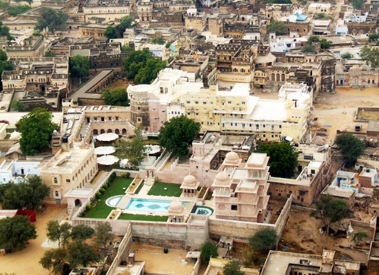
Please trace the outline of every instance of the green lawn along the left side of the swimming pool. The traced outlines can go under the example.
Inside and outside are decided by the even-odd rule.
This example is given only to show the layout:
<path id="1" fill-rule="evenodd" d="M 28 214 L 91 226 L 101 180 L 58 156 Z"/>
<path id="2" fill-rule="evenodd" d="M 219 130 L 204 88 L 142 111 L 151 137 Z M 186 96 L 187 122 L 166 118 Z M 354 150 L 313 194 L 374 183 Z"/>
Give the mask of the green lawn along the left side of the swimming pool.
<path id="1" fill-rule="evenodd" d="M 132 180 L 132 178 L 126 179 L 125 177 L 116 177 L 112 184 L 107 188 L 105 194 L 101 196 L 99 201 L 97 201 L 96 206 L 85 214 L 85 218 L 106 219 L 108 214 L 110 214 L 110 211 L 114 208 L 107 206 L 105 201 L 116 195 L 124 195 L 125 190 L 130 186 Z M 123 188 L 126 189 L 123 190 Z"/>

